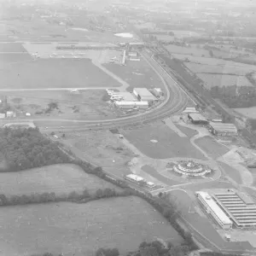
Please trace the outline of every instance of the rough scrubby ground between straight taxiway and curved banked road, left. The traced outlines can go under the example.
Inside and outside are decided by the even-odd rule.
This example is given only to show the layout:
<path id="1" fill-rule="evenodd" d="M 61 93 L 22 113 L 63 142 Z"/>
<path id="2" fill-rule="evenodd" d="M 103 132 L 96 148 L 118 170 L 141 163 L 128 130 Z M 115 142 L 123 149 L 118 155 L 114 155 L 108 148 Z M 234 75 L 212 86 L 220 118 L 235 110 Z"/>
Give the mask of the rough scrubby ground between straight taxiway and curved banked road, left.
<path id="1" fill-rule="evenodd" d="M 8 91 L 0 92 L 6 96 L 17 116 L 31 113 L 33 119 L 111 119 L 116 114 L 108 102 L 104 101 L 105 90 Z M 58 109 L 45 113 L 49 103 L 55 102 Z"/>

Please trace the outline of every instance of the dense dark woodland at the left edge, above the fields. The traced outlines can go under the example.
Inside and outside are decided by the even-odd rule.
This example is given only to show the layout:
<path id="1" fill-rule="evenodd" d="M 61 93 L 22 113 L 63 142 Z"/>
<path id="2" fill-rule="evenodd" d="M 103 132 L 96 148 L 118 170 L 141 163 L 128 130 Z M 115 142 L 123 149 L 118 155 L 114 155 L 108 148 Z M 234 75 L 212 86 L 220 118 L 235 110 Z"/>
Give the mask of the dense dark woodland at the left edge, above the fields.
<path id="1" fill-rule="evenodd" d="M 0 153 L 6 162 L 3 172 L 70 162 L 67 154 L 44 137 L 38 129 L 0 130 Z"/>

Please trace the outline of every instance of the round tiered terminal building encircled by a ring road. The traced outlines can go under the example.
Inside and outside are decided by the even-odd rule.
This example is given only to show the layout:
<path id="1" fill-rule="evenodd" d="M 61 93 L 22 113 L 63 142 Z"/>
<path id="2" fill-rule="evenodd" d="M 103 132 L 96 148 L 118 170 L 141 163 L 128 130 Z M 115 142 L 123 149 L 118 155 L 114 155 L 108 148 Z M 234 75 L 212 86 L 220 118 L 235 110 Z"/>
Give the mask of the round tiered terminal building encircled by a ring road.
<path id="1" fill-rule="evenodd" d="M 205 176 L 211 173 L 212 170 L 208 166 L 195 163 L 194 161 L 180 162 L 173 166 L 173 171 L 186 176 Z"/>

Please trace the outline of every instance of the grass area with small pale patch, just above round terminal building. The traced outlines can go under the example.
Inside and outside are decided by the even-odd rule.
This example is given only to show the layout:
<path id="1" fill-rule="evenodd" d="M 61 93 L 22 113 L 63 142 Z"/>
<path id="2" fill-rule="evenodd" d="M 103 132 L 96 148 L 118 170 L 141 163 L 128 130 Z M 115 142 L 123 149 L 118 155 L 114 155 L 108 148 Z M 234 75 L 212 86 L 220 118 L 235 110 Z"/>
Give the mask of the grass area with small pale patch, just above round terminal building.
<path id="1" fill-rule="evenodd" d="M 201 152 L 192 146 L 189 138 L 179 137 L 162 122 L 145 125 L 137 130 L 125 130 L 122 133 L 143 154 L 154 159 L 171 157 L 205 159 Z M 150 140 L 157 140 L 158 143 L 152 143 Z"/>

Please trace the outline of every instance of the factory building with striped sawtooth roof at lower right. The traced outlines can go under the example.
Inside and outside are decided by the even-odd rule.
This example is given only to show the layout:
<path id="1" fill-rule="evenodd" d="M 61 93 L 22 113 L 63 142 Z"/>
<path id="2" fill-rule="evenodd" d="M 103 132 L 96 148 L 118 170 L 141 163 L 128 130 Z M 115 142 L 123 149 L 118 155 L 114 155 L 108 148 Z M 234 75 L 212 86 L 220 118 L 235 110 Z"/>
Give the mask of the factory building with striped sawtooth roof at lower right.
<path id="1" fill-rule="evenodd" d="M 236 228 L 256 228 L 256 205 L 251 197 L 231 189 L 218 189 L 213 198 L 234 222 Z"/>

